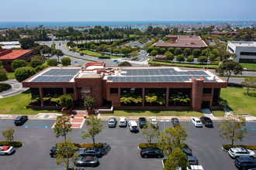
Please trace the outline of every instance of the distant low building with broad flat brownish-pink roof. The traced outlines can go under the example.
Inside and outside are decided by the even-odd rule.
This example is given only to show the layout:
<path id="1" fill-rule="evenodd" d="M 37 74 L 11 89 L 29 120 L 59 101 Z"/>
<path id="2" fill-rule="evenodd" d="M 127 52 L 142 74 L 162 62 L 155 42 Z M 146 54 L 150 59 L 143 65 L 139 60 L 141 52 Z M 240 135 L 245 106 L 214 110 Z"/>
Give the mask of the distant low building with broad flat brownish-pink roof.
<path id="1" fill-rule="evenodd" d="M 184 52 L 184 49 L 189 48 L 191 49 L 191 53 L 193 49 L 206 49 L 207 45 L 206 42 L 204 42 L 200 36 L 166 36 L 168 41 L 172 42 L 157 42 L 154 43 L 154 47 L 159 46 L 160 48 L 168 49 L 170 47 L 175 48 L 181 48 L 182 53 Z"/>

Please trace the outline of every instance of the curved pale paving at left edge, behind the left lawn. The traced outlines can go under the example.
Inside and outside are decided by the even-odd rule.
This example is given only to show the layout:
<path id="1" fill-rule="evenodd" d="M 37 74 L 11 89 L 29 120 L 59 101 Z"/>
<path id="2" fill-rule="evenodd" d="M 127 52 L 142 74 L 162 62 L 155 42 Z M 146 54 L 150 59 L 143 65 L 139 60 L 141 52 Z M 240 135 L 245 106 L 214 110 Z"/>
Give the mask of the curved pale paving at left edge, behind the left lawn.
<path id="1" fill-rule="evenodd" d="M 11 97 L 18 93 L 22 93 L 23 91 L 28 89 L 28 88 L 22 87 L 22 83 L 19 83 L 17 80 L 7 80 L 7 81 L 4 81 L 4 83 L 9 83 L 12 87 L 9 90 L 0 92 L 0 98 Z"/>

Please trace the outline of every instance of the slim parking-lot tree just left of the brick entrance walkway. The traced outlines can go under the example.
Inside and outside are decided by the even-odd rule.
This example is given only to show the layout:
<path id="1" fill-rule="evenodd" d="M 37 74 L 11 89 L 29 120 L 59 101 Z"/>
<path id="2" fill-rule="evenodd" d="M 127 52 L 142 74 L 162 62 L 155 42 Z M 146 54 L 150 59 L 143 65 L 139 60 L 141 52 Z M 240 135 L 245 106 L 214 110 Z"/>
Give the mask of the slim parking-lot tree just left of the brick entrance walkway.
<path id="1" fill-rule="evenodd" d="M 71 117 L 69 117 L 67 114 L 57 116 L 57 120 L 54 124 L 55 137 L 59 138 L 60 136 L 63 136 L 66 140 L 67 133 L 72 131 L 71 127 Z"/>

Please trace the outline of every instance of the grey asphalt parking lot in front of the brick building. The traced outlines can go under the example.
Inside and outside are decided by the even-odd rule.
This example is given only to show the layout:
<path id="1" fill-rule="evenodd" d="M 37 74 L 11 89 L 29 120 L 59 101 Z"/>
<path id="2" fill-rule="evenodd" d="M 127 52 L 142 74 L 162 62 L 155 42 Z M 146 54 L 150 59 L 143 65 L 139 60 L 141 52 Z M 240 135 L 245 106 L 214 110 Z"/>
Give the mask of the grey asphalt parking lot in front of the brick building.
<path id="1" fill-rule="evenodd" d="M 50 158 L 50 148 L 64 138 L 55 138 L 53 120 L 29 120 L 22 126 L 15 126 L 14 120 L 0 120 L 0 131 L 9 127 L 15 129 L 14 140 L 22 141 L 23 146 L 16 148 L 13 155 L 0 156 L 0 169 L 63 169 L 56 165 L 55 159 Z M 171 122 L 159 122 L 160 131 L 171 126 Z M 223 151 L 221 145 L 230 144 L 220 138 L 214 122 L 214 128 L 195 128 L 190 121 L 182 121 L 186 128 L 188 138 L 185 144 L 192 148 L 192 155 L 199 159 L 199 165 L 204 169 L 237 169 L 234 159 Z M 235 144 L 254 145 L 256 131 L 253 129 L 256 123 L 248 124 L 244 141 L 235 141 Z M 141 129 L 137 133 L 130 132 L 129 128 L 108 128 L 108 121 L 102 121 L 103 131 L 95 137 L 95 142 L 106 145 L 103 156 L 99 158 L 99 165 L 95 168 L 85 169 L 162 169 L 162 158 L 141 158 L 138 145 L 146 141 L 146 136 L 141 135 Z M 137 121 L 138 124 L 138 121 Z M 81 129 L 73 129 L 67 134 L 74 143 L 92 143 L 92 139 L 82 139 L 81 131 L 85 131 L 85 124 Z M 0 141 L 5 141 L 1 135 Z"/>

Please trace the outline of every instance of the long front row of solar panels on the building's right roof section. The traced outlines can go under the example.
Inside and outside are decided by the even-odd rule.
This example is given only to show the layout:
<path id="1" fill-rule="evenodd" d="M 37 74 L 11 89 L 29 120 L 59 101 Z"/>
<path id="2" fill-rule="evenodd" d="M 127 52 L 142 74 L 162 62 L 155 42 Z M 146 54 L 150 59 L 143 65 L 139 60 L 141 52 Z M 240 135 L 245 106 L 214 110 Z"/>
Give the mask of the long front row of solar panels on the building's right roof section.
<path id="1" fill-rule="evenodd" d="M 108 76 L 108 80 L 112 82 L 185 82 L 191 78 L 199 79 L 200 76 Z M 202 76 L 206 81 L 209 80 L 210 76 Z"/>

